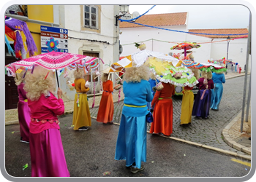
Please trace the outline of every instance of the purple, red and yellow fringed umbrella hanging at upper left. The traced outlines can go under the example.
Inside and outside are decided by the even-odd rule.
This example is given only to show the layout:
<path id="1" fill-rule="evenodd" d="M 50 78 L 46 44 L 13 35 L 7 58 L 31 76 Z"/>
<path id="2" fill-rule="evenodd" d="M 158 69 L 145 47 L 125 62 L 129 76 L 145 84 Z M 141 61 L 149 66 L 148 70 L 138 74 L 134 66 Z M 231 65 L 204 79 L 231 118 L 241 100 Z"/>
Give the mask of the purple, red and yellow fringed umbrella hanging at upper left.
<path id="1" fill-rule="evenodd" d="M 37 52 L 37 46 L 26 22 L 5 16 L 5 35 L 14 41 L 16 58 L 22 59 L 21 55 L 26 55 L 26 52 L 29 52 L 29 56 L 35 55 Z M 8 39 L 5 40 L 8 41 Z M 7 47 L 12 52 L 10 44 L 7 43 Z"/>

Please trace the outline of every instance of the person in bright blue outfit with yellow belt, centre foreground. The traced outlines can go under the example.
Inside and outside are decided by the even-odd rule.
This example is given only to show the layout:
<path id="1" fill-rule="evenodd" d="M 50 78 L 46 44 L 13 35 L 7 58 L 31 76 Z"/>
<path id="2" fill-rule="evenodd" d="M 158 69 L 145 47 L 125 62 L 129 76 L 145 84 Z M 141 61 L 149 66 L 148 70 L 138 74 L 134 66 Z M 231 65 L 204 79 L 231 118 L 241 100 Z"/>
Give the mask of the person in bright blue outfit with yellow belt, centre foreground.
<path id="1" fill-rule="evenodd" d="M 126 68 L 123 92 L 124 107 L 116 141 L 116 160 L 126 160 L 132 173 L 144 170 L 146 162 L 147 102 L 153 99 L 146 65 Z"/>

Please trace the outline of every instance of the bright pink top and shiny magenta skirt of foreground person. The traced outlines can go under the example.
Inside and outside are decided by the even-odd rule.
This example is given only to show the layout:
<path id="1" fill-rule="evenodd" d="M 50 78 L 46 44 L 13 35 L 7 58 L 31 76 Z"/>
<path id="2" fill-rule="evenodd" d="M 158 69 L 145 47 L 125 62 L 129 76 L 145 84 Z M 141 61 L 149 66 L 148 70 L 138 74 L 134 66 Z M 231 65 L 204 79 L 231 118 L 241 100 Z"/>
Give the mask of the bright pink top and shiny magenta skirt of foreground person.
<path id="1" fill-rule="evenodd" d="M 31 176 L 69 177 L 57 117 L 64 114 L 63 100 L 49 93 L 39 100 L 29 100 L 29 108 Z"/>

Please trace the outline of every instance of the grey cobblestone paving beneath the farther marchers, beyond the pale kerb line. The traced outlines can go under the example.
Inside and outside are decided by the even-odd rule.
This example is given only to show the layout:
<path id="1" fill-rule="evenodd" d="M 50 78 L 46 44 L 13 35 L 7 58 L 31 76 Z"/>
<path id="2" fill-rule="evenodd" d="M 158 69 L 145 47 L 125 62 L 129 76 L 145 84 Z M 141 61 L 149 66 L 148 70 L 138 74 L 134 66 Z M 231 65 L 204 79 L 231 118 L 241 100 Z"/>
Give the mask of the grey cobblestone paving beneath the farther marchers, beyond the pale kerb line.
<path id="1" fill-rule="evenodd" d="M 192 116 L 192 124 L 189 127 L 180 127 L 182 96 L 173 96 L 173 134 L 171 137 L 192 141 L 195 143 L 213 146 L 218 149 L 235 151 L 238 154 L 245 154 L 231 148 L 222 139 L 222 130 L 241 111 L 244 93 L 244 76 L 227 79 L 223 84 L 224 92 L 219 111 L 211 111 L 208 119 L 196 119 Z M 248 89 L 247 89 L 248 90 Z M 246 97 L 247 98 L 247 97 Z M 121 110 L 124 102 L 114 104 L 113 120 L 119 123 Z M 97 108 L 91 109 L 91 116 L 97 117 Z M 148 124 L 148 131 L 150 124 Z M 245 154 L 246 155 L 246 154 Z"/>

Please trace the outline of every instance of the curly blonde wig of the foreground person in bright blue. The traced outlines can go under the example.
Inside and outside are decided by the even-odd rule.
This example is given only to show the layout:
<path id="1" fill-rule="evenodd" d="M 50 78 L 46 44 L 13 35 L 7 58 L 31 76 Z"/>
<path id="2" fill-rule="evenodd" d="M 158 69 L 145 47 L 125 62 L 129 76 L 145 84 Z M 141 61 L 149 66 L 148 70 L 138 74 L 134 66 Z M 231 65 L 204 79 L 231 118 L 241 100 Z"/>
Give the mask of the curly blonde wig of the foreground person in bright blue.
<path id="1" fill-rule="evenodd" d="M 141 79 L 148 80 L 150 78 L 150 70 L 149 67 L 144 64 L 143 66 L 139 67 L 131 67 L 126 68 L 124 74 L 124 81 L 129 82 L 140 82 Z"/>

